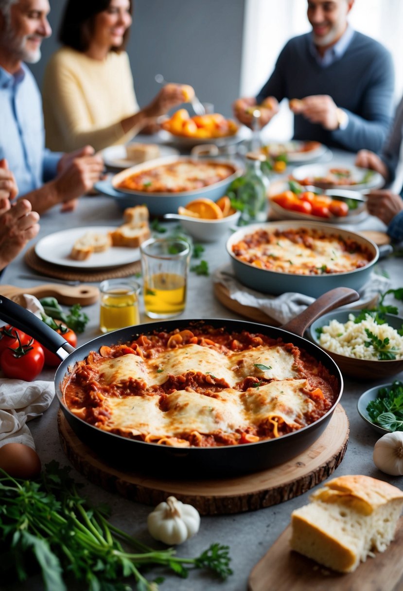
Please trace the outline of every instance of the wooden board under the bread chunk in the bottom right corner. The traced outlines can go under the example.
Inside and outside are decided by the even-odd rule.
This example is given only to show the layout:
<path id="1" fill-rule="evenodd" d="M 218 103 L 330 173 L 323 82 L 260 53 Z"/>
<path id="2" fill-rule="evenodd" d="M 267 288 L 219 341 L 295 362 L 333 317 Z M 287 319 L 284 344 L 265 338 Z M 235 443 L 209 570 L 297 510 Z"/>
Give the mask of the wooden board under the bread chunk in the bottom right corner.
<path id="1" fill-rule="evenodd" d="M 252 569 L 248 591 L 402 591 L 403 517 L 395 540 L 383 553 L 367 558 L 353 573 L 341 574 L 290 550 L 291 525 Z"/>

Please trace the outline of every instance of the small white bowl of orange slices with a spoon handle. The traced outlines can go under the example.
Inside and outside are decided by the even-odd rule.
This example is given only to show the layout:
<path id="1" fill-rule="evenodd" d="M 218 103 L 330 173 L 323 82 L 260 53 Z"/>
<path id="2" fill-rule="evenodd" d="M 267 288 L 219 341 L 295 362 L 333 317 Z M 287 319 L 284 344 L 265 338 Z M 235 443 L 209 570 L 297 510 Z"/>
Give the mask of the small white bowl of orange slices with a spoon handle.
<path id="1" fill-rule="evenodd" d="M 235 228 L 241 212 L 233 209 L 227 195 L 217 201 L 199 197 L 178 207 L 178 213 L 167 213 L 165 219 L 180 220 L 183 228 L 200 242 L 216 242 Z"/>

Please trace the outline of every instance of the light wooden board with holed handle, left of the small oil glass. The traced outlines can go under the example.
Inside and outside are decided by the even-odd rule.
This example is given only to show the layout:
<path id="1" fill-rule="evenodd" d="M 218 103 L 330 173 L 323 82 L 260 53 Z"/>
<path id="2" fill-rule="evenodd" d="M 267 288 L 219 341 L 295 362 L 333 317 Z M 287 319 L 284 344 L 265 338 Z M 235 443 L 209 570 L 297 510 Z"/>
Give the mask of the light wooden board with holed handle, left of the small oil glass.
<path id="1" fill-rule="evenodd" d="M 20 306 L 25 307 L 23 294 L 30 294 L 40 300 L 43 297 L 56 297 L 59 304 L 73 306 L 90 306 L 99 300 L 99 289 L 96 285 L 59 285 L 57 283 L 44 283 L 34 287 L 15 287 L 15 285 L 0 285 L 0 296 L 8 297 Z"/>

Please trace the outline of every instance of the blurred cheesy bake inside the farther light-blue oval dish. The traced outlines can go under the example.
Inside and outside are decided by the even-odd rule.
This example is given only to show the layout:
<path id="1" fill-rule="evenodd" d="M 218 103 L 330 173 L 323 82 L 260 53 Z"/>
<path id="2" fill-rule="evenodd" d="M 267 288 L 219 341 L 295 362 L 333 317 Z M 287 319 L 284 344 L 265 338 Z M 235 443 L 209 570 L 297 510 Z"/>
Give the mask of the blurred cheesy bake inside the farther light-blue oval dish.
<path id="1" fill-rule="evenodd" d="M 210 161 L 176 160 L 131 174 L 118 184 L 118 189 L 146 193 L 179 193 L 202 189 L 235 173 L 230 164 Z"/>

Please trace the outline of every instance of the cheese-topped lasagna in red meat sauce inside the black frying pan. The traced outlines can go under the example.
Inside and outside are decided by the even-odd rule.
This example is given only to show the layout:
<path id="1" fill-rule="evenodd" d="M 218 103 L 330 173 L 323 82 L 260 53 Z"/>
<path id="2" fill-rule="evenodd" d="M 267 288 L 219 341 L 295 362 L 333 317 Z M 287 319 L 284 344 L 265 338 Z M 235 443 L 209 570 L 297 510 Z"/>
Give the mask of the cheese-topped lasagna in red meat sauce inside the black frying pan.
<path id="1" fill-rule="evenodd" d="M 104 431 L 209 447 L 297 431 L 332 407 L 337 389 L 337 379 L 292 343 L 206 326 L 102 346 L 71 368 L 63 397 Z"/>

